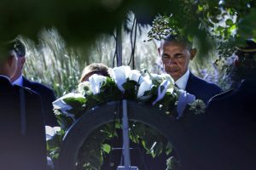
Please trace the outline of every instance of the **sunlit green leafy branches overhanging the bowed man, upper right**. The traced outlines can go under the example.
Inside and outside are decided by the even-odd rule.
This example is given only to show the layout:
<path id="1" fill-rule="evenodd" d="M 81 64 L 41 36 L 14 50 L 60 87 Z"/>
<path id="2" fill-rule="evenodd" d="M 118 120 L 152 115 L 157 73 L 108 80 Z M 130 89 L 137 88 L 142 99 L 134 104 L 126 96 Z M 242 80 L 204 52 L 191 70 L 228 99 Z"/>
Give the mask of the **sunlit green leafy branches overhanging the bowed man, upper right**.
<path id="1" fill-rule="evenodd" d="M 207 37 L 216 42 L 228 42 L 235 38 L 236 45 L 247 38 L 255 38 L 255 2 L 238 1 L 180 1 L 180 11 L 161 13 L 154 19 L 150 39 L 160 40 L 167 34 L 177 34 L 191 41 L 196 37 L 199 48 L 206 54 L 211 44 Z M 230 38 L 231 37 L 231 38 Z"/>

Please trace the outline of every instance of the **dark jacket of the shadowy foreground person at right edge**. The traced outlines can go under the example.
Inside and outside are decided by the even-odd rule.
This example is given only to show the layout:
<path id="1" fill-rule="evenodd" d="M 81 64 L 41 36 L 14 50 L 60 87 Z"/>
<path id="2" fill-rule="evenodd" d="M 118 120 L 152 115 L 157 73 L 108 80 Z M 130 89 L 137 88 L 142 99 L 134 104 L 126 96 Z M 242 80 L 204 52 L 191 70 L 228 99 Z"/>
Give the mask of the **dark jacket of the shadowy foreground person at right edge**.
<path id="1" fill-rule="evenodd" d="M 210 100 L 203 126 L 209 135 L 201 141 L 214 141 L 202 152 L 209 157 L 207 169 L 256 168 L 255 99 L 256 79 Z"/>

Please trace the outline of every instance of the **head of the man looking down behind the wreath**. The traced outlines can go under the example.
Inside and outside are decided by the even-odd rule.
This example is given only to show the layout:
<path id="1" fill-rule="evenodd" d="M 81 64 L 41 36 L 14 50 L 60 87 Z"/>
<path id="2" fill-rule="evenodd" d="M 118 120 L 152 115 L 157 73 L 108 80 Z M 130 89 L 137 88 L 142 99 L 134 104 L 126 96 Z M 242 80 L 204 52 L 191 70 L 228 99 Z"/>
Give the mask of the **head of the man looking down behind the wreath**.
<path id="1" fill-rule="evenodd" d="M 196 49 L 189 42 L 169 35 L 161 42 L 159 53 L 166 73 L 177 81 L 188 71 L 189 60 L 194 59 Z"/>

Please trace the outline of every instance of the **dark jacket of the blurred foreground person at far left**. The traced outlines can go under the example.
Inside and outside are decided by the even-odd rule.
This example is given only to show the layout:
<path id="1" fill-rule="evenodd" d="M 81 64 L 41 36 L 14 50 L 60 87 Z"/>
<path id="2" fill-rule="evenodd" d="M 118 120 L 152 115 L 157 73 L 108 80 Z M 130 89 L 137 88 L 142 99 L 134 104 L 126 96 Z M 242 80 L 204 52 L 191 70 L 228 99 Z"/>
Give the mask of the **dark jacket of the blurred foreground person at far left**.
<path id="1" fill-rule="evenodd" d="M 0 77 L 0 169 L 43 170 L 46 144 L 42 102 L 38 94 L 23 88 L 26 131 L 22 134 L 20 88 Z"/>

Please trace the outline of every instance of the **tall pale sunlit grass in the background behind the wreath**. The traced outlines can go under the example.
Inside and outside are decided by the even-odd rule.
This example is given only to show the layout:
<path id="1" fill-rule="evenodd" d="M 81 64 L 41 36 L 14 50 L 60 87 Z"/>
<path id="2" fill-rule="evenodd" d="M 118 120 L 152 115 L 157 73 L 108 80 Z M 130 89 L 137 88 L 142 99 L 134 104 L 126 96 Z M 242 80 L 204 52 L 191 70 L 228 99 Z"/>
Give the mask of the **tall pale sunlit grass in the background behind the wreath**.
<path id="1" fill-rule="evenodd" d="M 135 69 L 152 71 L 159 58 L 155 42 L 147 42 L 149 26 L 139 26 L 135 50 Z M 131 57 L 130 33 L 123 31 L 123 65 Z M 24 75 L 32 81 L 42 82 L 53 88 L 57 97 L 77 88 L 81 71 L 93 62 L 113 66 L 115 39 L 112 35 L 99 35 L 95 42 L 84 48 L 67 46 L 55 29 L 43 30 L 38 42 L 23 37 L 26 43 Z"/>

